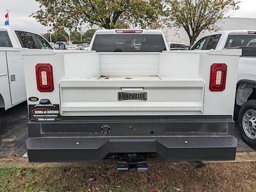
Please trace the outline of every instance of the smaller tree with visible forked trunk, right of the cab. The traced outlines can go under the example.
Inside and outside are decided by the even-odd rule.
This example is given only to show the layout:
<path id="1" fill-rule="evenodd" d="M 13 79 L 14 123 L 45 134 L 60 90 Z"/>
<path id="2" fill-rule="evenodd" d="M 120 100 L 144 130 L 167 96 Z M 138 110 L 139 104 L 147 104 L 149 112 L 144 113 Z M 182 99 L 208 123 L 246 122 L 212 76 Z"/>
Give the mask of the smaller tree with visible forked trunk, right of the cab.
<path id="1" fill-rule="evenodd" d="M 239 9 L 236 0 L 169 0 L 171 25 L 184 28 L 193 45 L 200 33 L 216 29 L 232 10 Z"/>

